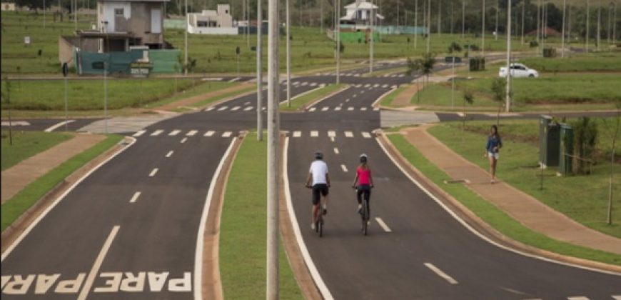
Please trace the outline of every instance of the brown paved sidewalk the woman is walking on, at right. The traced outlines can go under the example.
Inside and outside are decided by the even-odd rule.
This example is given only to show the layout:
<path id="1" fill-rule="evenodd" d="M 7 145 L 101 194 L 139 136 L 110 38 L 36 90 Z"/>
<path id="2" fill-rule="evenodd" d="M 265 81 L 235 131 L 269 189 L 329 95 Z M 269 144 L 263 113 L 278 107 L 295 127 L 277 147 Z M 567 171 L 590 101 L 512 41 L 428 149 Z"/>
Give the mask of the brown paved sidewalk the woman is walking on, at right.
<path id="1" fill-rule="evenodd" d="M 467 161 L 435 139 L 427 132 L 429 127 L 414 127 L 401 133 L 451 178 L 468 179 L 468 188 L 534 231 L 578 246 L 621 254 L 621 239 L 587 228 L 509 184 L 490 184 L 488 171 Z"/>

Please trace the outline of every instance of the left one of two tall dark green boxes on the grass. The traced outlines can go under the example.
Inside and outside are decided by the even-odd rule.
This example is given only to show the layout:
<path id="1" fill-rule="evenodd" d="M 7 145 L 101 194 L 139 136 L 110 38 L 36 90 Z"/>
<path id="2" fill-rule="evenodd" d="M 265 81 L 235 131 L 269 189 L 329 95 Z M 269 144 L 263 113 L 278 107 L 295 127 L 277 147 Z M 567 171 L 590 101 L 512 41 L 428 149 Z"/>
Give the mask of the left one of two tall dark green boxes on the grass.
<path id="1" fill-rule="evenodd" d="M 551 116 L 541 116 L 539 121 L 539 165 L 542 169 L 558 166 L 560 125 Z"/>

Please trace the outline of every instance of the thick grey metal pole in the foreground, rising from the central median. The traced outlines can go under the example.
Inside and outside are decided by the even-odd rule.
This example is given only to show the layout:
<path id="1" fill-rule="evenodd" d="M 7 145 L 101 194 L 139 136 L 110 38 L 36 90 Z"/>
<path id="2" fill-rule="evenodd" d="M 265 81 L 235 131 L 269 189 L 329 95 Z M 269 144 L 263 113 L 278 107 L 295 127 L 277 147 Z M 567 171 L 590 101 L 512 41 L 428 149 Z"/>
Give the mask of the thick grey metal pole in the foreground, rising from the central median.
<path id="1" fill-rule="evenodd" d="M 266 299 L 278 300 L 278 200 L 280 194 L 280 116 L 278 114 L 278 0 L 269 0 L 268 36 L 268 220 Z"/>

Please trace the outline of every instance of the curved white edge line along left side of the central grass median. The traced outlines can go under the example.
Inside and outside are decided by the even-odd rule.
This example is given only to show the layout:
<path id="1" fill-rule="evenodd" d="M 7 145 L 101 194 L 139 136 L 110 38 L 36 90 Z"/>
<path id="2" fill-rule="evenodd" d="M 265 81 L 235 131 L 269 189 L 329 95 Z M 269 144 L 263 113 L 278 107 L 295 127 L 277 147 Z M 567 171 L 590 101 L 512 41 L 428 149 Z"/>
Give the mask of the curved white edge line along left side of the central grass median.
<path id="1" fill-rule="evenodd" d="M 211 199 L 213 198 L 213 190 L 216 189 L 216 179 L 220 176 L 224 161 L 231 154 L 231 149 L 235 144 L 236 137 L 231 139 L 231 144 L 228 145 L 228 149 L 222 156 L 216 171 L 211 176 L 211 183 L 207 191 L 207 197 L 205 199 L 205 206 L 203 206 L 203 214 L 201 215 L 201 223 L 198 225 L 198 233 L 196 234 L 196 249 L 194 251 L 194 299 L 203 299 L 203 238 L 205 236 L 205 224 L 207 222 L 207 215 L 209 208 L 211 207 Z M 286 152 L 285 152 L 285 155 Z M 286 168 L 283 168 L 286 169 Z"/>

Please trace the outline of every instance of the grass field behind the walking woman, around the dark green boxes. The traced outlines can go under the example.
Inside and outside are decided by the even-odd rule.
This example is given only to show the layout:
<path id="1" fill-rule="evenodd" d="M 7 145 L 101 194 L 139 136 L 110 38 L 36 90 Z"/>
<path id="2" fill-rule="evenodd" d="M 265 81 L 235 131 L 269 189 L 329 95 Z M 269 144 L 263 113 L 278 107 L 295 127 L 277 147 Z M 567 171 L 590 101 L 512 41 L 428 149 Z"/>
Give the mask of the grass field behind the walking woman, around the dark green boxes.
<path id="1" fill-rule="evenodd" d="M 556 176 L 557 167 L 542 172 L 537 163 L 538 122 L 533 120 L 503 121 L 500 124 L 503 149 L 497 176 L 571 219 L 597 231 L 621 238 L 621 210 L 613 210 L 613 224 L 606 224 L 610 151 L 615 132 L 610 128 L 612 126 L 604 126 L 605 121 L 602 119 L 594 120 L 600 131 L 595 148 L 596 155 L 592 158 L 596 164 L 592 166 L 591 174 Z M 469 121 L 466 123 L 466 131 L 463 131 L 462 124 L 450 123 L 434 126 L 428 131 L 468 161 L 488 169 L 489 162 L 483 158 L 483 148 L 490 124 L 493 122 Z M 621 156 L 620 149 L 617 148 L 616 153 Z M 614 174 L 618 180 L 621 176 L 621 164 L 615 164 Z M 614 186 L 613 194 L 620 194 L 620 185 Z M 621 197 L 615 197 L 612 206 L 621 206 Z"/>

